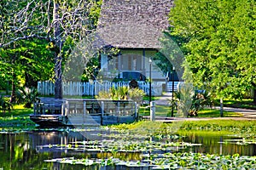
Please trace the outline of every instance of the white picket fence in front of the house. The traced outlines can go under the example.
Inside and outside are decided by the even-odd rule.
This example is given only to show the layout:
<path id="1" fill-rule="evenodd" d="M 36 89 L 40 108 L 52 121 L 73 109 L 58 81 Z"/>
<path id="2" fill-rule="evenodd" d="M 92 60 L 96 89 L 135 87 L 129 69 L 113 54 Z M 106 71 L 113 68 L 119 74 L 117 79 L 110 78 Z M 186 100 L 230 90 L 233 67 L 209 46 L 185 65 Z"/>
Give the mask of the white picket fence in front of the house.
<path id="1" fill-rule="evenodd" d="M 149 94 L 149 83 L 138 82 L 139 88 L 143 89 L 146 94 Z M 98 95 L 100 91 L 108 91 L 112 87 L 129 86 L 129 82 L 62 82 L 63 95 Z M 55 84 L 53 82 L 38 82 L 38 93 L 42 95 L 55 94 Z M 161 95 L 161 84 L 152 84 L 152 94 Z"/>

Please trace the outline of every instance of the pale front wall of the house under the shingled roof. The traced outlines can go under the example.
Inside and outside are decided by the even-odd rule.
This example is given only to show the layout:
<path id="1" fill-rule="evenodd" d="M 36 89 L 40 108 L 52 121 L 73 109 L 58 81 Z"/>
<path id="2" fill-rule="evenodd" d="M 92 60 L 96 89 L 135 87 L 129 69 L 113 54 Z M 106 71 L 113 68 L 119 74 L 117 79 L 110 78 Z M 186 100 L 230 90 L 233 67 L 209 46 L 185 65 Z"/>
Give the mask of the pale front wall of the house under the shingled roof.
<path id="1" fill-rule="evenodd" d="M 156 54 L 156 50 L 149 49 L 121 49 L 120 54 L 112 59 L 101 54 L 101 70 L 108 72 L 109 78 L 116 77 L 121 71 L 139 71 L 149 77 L 149 58 Z M 151 77 L 154 81 L 165 82 L 166 76 L 160 68 L 152 62 Z"/>

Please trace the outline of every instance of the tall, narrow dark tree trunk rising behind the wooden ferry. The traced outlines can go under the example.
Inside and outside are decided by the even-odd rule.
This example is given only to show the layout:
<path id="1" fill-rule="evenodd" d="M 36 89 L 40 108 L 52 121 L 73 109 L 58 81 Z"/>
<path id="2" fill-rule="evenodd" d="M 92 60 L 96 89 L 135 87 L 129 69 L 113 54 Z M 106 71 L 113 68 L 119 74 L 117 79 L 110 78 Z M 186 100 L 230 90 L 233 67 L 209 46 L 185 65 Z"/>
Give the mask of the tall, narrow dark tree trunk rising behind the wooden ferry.
<path id="1" fill-rule="evenodd" d="M 54 45 L 55 45 L 55 99 L 62 99 L 62 79 L 61 79 L 61 31 L 59 23 L 60 5 L 54 1 L 53 20 L 54 20 Z"/>

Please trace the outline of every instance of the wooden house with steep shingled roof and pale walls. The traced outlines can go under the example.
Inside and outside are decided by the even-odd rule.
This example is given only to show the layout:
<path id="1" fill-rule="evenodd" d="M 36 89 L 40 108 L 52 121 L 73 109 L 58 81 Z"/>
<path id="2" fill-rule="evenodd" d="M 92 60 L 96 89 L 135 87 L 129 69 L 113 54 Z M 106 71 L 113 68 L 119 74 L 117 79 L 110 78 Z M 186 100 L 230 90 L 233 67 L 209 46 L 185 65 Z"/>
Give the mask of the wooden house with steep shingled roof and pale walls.
<path id="1" fill-rule="evenodd" d="M 122 78 L 122 72 L 149 77 L 149 59 L 160 49 L 173 0 L 103 0 L 98 33 L 103 47 L 118 48 L 116 55 L 101 54 L 106 77 Z M 166 75 L 152 63 L 152 79 L 165 82 Z"/>

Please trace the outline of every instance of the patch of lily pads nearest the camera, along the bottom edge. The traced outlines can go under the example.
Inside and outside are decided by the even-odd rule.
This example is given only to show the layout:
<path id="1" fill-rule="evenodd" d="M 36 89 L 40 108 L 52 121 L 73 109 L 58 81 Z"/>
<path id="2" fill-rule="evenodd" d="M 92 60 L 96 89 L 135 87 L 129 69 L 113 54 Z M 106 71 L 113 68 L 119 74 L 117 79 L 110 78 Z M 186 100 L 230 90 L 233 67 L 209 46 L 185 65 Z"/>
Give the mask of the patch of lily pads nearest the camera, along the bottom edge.
<path id="1" fill-rule="evenodd" d="M 56 158 L 45 161 L 59 163 L 83 164 L 90 166 L 99 164 L 101 167 L 147 167 L 147 169 L 255 169 L 255 156 L 219 156 L 201 153 L 143 154 L 140 161 L 122 161 L 109 157 L 106 159 L 75 159 L 73 157 Z"/>

